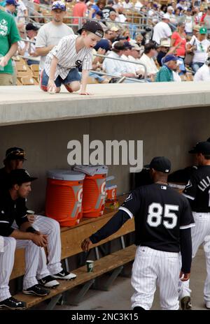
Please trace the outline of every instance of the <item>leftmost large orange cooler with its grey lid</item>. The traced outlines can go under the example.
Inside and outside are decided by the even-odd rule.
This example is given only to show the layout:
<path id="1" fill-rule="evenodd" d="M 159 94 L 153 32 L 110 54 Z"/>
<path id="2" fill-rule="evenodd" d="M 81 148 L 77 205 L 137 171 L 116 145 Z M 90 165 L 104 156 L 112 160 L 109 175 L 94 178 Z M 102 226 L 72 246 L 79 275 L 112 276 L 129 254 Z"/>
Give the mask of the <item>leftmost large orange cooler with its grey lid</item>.
<path id="1" fill-rule="evenodd" d="M 48 171 L 45 215 L 56 219 L 60 226 L 74 226 L 82 217 L 82 172 L 72 170 Z"/>

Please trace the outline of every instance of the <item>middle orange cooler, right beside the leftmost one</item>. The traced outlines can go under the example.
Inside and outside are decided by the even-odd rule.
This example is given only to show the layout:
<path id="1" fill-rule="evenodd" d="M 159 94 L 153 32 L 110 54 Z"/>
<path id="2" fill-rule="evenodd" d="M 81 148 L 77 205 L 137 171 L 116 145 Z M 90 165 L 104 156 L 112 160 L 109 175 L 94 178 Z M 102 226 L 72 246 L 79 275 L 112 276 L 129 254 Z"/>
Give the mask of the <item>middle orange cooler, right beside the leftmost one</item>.
<path id="1" fill-rule="evenodd" d="M 99 217 L 104 213 L 107 168 L 100 168 L 94 175 L 85 175 L 83 182 L 83 216 Z"/>

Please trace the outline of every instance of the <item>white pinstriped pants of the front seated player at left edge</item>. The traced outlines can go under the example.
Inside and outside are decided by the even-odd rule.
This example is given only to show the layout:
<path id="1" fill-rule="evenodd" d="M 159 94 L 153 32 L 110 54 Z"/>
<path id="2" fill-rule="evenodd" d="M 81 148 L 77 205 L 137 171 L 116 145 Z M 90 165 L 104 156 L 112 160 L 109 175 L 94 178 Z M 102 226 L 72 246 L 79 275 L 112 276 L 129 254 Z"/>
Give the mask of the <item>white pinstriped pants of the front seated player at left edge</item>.
<path id="1" fill-rule="evenodd" d="M 10 297 L 9 280 L 13 270 L 15 249 L 25 249 L 25 276 L 23 289 L 38 283 L 36 272 L 40 247 L 29 240 L 15 240 L 13 237 L 3 237 L 3 252 L 0 253 L 0 301 Z"/>

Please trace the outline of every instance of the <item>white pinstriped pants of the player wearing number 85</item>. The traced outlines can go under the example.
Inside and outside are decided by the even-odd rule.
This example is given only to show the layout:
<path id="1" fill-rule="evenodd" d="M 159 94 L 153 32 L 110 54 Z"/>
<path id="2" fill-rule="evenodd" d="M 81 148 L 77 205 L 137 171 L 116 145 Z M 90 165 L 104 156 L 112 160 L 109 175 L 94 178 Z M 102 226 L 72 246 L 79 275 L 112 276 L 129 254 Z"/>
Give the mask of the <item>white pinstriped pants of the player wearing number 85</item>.
<path id="1" fill-rule="evenodd" d="M 160 306 L 163 310 L 179 309 L 180 263 L 179 253 L 158 251 L 148 246 L 138 246 L 132 268 L 132 309 L 151 309 L 156 290 L 160 287 Z"/>

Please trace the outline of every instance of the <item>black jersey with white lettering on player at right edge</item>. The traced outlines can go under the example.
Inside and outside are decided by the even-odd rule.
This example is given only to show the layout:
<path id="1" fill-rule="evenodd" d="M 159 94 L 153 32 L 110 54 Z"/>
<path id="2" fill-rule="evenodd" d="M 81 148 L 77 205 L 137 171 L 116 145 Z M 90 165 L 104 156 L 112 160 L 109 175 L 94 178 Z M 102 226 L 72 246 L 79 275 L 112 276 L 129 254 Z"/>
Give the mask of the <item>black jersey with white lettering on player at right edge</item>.
<path id="1" fill-rule="evenodd" d="M 199 166 L 193 172 L 183 194 L 193 212 L 210 212 L 210 165 Z"/>

